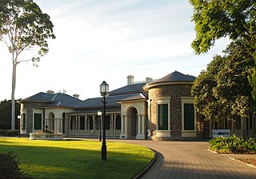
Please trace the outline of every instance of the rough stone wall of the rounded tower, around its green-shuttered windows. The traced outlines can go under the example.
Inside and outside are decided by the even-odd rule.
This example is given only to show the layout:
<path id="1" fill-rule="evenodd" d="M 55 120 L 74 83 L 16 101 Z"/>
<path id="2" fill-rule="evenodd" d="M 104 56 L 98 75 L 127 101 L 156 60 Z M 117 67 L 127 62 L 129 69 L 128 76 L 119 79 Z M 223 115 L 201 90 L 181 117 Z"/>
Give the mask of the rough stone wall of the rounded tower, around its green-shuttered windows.
<path id="1" fill-rule="evenodd" d="M 203 121 L 203 117 L 197 115 L 198 137 L 182 137 L 182 98 L 192 97 L 190 88 L 192 85 L 166 85 L 155 86 L 149 90 L 149 99 L 151 100 L 151 129 L 152 138 L 156 140 L 195 140 L 202 139 L 209 133 L 207 132 L 207 122 Z M 155 137 L 157 129 L 157 101 L 161 98 L 170 98 L 170 136 L 171 137 Z"/>

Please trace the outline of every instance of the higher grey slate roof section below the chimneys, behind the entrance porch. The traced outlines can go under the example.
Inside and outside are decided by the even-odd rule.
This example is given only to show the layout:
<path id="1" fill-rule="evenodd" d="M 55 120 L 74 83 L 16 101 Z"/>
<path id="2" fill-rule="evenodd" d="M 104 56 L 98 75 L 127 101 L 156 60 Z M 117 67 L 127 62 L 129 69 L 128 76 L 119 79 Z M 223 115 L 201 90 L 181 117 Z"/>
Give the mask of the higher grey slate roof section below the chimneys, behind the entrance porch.
<path id="1" fill-rule="evenodd" d="M 119 94 L 128 94 L 128 93 L 143 93 L 143 86 L 146 85 L 146 82 L 134 83 L 131 85 L 123 86 L 117 90 L 110 91 L 110 96 L 119 95 Z"/>

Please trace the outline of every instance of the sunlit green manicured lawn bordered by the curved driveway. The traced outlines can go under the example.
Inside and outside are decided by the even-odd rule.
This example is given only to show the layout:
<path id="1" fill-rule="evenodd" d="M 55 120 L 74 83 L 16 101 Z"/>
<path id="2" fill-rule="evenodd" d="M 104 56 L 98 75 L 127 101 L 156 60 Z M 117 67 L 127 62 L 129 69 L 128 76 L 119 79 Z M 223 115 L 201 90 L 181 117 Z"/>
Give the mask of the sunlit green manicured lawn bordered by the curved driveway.
<path id="1" fill-rule="evenodd" d="M 107 161 L 99 141 L 29 141 L 0 137 L 0 153 L 14 151 L 20 168 L 34 178 L 133 178 L 154 153 L 139 145 L 107 141 Z"/>

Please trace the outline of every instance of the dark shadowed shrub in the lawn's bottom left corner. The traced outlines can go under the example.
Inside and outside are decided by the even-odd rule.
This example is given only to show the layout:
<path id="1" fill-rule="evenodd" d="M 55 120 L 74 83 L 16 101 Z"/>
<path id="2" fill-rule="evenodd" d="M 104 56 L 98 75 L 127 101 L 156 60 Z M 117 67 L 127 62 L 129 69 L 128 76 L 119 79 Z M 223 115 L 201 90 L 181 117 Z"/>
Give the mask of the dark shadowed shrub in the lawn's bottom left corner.
<path id="1" fill-rule="evenodd" d="M 28 177 L 25 173 L 22 173 L 21 169 L 18 168 L 19 157 L 14 155 L 13 152 L 7 154 L 0 153 L 0 178 L 2 179 L 33 179 Z"/>

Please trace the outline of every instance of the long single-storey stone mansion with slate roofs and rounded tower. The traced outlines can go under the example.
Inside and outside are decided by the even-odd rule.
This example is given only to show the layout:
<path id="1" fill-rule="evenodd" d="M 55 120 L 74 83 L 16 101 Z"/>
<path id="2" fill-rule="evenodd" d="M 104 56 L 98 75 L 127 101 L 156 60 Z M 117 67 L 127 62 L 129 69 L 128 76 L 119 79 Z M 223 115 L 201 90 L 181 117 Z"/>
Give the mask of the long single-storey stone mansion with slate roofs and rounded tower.
<path id="1" fill-rule="evenodd" d="M 134 82 L 112 90 L 106 96 L 106 137 L 140 140 L 202 140 L 213 129 L 230 129 L 230 135 L 255 134 L 255 117 L 240 121 L 205 121 L 194 109 L 191 86 L 194 76 L 174 71 L 158 80 Z M 102 97 L 84 101 L 66 93 L 37 93 L 19 101 L 21 132 L 49 130 L 64 137 L 98 137 L 102 129 Z"/>

